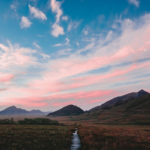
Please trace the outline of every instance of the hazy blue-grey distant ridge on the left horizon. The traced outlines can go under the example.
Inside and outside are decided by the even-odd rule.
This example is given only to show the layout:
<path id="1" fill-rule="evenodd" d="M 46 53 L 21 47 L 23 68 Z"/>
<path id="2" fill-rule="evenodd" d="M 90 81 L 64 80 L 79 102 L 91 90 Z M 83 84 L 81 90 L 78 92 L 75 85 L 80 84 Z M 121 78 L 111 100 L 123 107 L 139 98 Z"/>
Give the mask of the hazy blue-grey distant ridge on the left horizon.
<path id="1" fill-rule="evenodd" d="M 17 108 L 16 106 L 8 107 L 0 111 L 0 115 L 47 115 L 49 112 L 42 112 L 40 110 L 27 111 L 25 109 Z"/>

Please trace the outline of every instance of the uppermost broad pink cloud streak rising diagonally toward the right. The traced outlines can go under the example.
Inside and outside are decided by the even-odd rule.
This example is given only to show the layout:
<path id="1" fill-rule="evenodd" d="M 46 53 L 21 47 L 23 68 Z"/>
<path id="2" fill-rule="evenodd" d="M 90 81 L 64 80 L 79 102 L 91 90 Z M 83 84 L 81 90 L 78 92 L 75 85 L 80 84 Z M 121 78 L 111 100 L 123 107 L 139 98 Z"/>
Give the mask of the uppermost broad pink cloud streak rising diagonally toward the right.
<path id="1" fill-rule="evenodd" d="M 80 61 L 77 60 L 72 61 L 57 61 L 53 62 L 50 66 L 52 71 L 45 72 L 43 80 L 35 80 L 30 86 L 35 85 L 46 85 L 52 82 L 57 82 L 62 78 L 70 77 L 73 75 L 77 75 L 83 72 L 87 72 L 93 69 L 100 68 L 104 65 L 112 64 L 116 61 L 122 60 L 123 58 L 127 58 L 127 56 L 134 55 L 135 53 L 143 51 L 143 48 L 139 48 L 134 50 L 130 46 L 125 46 L 124 48 L 118 50 L 112 56 L 100 56 L 91 58 L 88 61 Z M 55 71 L 57 68 L 57 71 Z"/>

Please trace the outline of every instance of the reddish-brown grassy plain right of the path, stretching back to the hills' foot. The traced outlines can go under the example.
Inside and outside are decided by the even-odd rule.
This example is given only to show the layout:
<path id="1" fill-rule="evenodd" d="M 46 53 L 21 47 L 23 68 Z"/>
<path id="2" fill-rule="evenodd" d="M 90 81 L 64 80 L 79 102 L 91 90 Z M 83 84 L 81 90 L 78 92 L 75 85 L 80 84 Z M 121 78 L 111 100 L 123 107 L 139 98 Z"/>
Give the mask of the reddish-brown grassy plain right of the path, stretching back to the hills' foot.
<path id="1" fill-rule="evenodd" d="M 61 123 L 81 124 L 78 126 L 80 150 L 150 150 L 150 125 L 113 124 L 101 122 L 99 118 L 83 119 L 86 115 L 55 117 Z"/>

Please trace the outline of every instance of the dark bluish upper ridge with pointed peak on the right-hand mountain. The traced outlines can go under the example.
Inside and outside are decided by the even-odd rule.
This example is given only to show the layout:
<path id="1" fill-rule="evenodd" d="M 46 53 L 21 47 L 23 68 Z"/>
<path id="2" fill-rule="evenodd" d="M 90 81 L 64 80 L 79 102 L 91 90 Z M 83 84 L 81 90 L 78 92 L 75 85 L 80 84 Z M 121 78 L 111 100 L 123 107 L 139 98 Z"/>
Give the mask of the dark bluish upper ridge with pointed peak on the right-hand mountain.
<path id="1" fill-rule="evenodd" d="M 119 105 L 119 104 L 124 103 L 126 101 L 129 101 L 131 99 L 138 98 L 138 97 L 141 97 L 141 96 L 144 96 L 147 94 L 149 94 L 149 93 L 142 89 L 139 92 L 132 92 L 132 93 L 129 93 L 129 94 L 126 94 L 123 96 L 115 97 L 115 98 L 105 102 L 104 104 L 102 104 L 100 106 L 96 106 L 96 107 L 90 109 L 89 111 L 91 112 L 91 111 L 95 111 L 98 109 L 107 109 L 107 108 L 110 108 L 114 105 Z"/>

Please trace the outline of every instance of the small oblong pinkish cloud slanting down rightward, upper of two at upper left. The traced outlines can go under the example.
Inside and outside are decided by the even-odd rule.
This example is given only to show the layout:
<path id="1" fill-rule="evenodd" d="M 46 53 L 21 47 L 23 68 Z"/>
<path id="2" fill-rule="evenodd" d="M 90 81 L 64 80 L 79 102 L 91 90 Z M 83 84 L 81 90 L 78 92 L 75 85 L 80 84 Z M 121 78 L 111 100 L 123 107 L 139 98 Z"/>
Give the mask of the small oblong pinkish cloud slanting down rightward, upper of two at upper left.
<path id="1" fill-rule="evenodd" d="M 42 11 L 38 10 L 35 7 L 32 7 L 29 5 L 29 11 L 30 11 L 30 14 L 32 14 L 34 18 L 38 18 L 41 20 L 47 20 L 46 15 Z"/>

